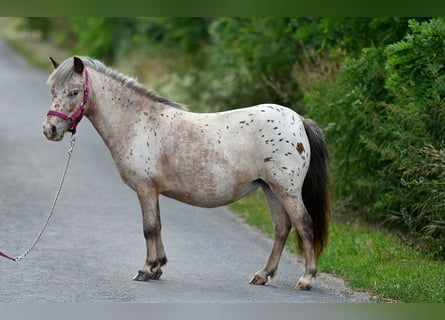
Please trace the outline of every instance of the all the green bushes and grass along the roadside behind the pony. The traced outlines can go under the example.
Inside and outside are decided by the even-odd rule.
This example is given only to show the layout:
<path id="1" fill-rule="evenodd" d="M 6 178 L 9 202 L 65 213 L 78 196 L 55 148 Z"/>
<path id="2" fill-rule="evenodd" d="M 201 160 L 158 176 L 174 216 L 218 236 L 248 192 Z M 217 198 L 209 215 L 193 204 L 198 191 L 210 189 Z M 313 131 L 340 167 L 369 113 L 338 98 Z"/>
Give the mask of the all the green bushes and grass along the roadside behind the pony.
<path id="1" fill-rule="evenodd" d="M 378 301 L 445 302 L 444 18 L 13 21 L 56 58 L 100 58 L 193 111 L 274 102 L 314 119 L 335 199 L 320 271 Z M 231 208 L 271 232 L 260 193 Z"/>

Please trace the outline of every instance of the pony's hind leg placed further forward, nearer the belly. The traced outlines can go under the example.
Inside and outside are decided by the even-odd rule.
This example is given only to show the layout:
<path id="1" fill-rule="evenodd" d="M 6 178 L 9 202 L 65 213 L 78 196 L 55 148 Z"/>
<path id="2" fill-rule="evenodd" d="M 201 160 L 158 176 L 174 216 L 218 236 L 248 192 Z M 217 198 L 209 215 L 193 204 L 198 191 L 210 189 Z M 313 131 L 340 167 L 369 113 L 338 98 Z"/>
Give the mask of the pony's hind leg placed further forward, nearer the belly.
<path id="1" fill-rule="evenodd" d="M 275 276 L 283 252 L 287 236 L 291 229 L 289 216 L 281 202 L 275 197 L 268 185 L 263 186 L 263 191 L 269 205 L 270 215 L 274 225 L 274 244 L 266 265 L 250 280 L 250 284 L 263 285 Z"/>

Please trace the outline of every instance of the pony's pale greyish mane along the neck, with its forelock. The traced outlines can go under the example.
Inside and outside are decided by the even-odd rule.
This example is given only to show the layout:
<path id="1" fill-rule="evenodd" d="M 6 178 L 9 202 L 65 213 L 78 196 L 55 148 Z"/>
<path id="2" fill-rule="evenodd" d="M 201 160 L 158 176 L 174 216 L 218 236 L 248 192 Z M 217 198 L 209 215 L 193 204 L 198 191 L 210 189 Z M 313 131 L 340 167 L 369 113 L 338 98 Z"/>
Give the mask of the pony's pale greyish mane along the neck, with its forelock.
<path id="1" fill-rule="evenodd" d="M 107 67 L 101 61 L 90 58 L 90 57 L 79 57 L 82 59 L 84 65 L 89 69 L 94 69 L 106 76 L 109 76 L 116 81 L 122 83 L 125 87 L 135 91 L 138 94 L 142 94 L 150 100 L 155 102 L 159 102 L 162 104 L 169 105 L 178 109 L 185 109 L 185 106 L 171 101 L 169 99 L 163 98 L 151 90 L 148 90 L 144 86 L 142 86 L 136 79 L 126 76 L 122 73 L 119 73 L 110 67 Z M 64 82 L 70 79 L 74 75 L 74 66 L 73 66 L 73 58 L 68 58 L 63 61 L 49 76 L 48 84 L 53 85 L 56 82 Z"/>

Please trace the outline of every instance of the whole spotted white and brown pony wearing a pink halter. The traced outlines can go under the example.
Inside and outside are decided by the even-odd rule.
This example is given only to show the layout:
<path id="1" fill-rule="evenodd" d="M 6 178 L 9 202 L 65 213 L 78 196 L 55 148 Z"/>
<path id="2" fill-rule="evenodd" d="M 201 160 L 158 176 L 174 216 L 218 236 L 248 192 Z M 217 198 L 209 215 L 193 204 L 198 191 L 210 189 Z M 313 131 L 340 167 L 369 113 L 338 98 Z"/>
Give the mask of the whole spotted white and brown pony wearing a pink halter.
<path id="1" fill-rule="evenodd" d="M 45 136 L 61 140 L 66 131 L 75 131 L 81 119 L 77 115 L 85 115 L 109 148 L 122 180 L 137 193 L 147 256 L 135 280 L 159 279 L 167 261 L 160 194 L 217 207 L 261 187 L 274 244 L 250 283 L 262 285 L 275 275 L 293 224 L 306 261 L 296 286 L 312 287 L 329 220 L 328 156 L 313 121 L 275 104 L 192 113 L 97 60 L 72 57 L 61 64 L 53 60 L 53 65 Z"/>

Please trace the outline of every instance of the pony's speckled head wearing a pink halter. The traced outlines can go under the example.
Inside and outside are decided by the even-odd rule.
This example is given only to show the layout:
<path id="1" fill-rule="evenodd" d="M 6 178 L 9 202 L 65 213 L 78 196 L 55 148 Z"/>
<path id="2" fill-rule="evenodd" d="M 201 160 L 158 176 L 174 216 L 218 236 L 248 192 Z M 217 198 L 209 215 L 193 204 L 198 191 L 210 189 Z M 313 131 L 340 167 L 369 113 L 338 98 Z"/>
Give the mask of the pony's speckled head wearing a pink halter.
<path id="1" fill-rule="evenodd" d="M 60 141 L 65 132 L 76 132 L 88 103 L 88 73 L 82 59 L 73 57 L 54 66 L 48 78 L 51 86 L 51 108 L 43 123 L 43 133 L 48 140 Z"/>

